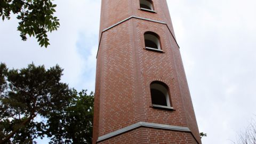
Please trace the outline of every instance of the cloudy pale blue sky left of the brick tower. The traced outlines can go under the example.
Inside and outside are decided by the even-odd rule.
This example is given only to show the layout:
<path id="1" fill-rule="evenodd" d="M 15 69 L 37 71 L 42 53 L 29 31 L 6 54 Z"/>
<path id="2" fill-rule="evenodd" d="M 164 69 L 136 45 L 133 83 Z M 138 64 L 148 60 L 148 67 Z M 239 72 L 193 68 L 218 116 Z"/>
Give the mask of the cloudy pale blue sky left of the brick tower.
<path id="1" fill-rule="evenodd" d="M 22 42 L 15 17 L 0 21 L 0 61 L 10 68 L 27 67 L 31 62 L 49 68 L 58 63 L 64 69 L 63 82 L 78 91 L 94 91 L 100 0 L 57 0 L 53 3 L 57 4 L 56 15 L 61 26 L 49 34 L 51 45 L 47 49 L 39 47 L 35 38 Z M 37 140 L 39 144 L 47 141 Z"/>

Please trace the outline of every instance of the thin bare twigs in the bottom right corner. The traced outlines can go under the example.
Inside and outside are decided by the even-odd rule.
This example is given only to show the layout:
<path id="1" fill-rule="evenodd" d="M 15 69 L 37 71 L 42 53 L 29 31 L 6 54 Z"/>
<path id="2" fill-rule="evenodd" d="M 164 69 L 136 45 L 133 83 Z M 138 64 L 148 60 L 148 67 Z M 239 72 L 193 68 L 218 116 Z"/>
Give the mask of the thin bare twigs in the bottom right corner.
<path id="1" fill-rule="evenodd" d="M 238 134 L 237 142 L 234 144 L 255 144 L 256 143 L 256 121 L 252 119 L 249 126 L 246 127 L 244 132 Z"/>

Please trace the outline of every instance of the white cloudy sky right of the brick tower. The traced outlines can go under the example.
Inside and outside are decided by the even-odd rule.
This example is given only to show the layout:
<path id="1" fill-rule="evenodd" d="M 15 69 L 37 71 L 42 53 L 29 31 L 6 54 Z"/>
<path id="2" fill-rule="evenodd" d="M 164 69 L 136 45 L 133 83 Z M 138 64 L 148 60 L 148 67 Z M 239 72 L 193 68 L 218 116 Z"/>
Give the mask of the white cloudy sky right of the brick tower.
<path id="1" fill-rule="evenodd" d="M 256 2 L 167 2 L 202 141 L 231 143 L 256 113 Z"/>

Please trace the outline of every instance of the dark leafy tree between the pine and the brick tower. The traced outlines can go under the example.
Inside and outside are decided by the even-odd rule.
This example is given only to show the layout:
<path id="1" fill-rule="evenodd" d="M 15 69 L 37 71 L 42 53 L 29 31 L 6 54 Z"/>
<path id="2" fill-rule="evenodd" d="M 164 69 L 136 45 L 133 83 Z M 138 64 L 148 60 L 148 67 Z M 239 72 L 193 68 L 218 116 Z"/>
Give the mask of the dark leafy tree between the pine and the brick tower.
<path id="1" fill-rule="evenodd" d="M 92 143 L 93 93 L 87 95 L 83 90 L 78 95 L 70 101 L 64 115 L 51 115 L 47 132 L 54 136 L 50 143 Z"/>

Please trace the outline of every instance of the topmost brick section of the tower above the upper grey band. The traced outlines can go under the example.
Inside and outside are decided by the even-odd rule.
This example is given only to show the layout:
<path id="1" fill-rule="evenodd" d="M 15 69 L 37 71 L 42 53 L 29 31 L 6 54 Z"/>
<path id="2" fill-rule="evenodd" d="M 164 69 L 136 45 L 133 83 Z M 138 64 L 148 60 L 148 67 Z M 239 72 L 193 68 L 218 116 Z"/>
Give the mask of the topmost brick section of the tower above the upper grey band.
<path id="1" fill-rule="evenodd" d="M 100 33 L 103 29 L 113 26 L 115 23 L 133 15 L 137 17 L 166 22 L 174 35 L 172 21 L 166 0 L 153 0 L 153 3 L 156 13 L 141 11 L 139 0 L 102 0 Z"/>

